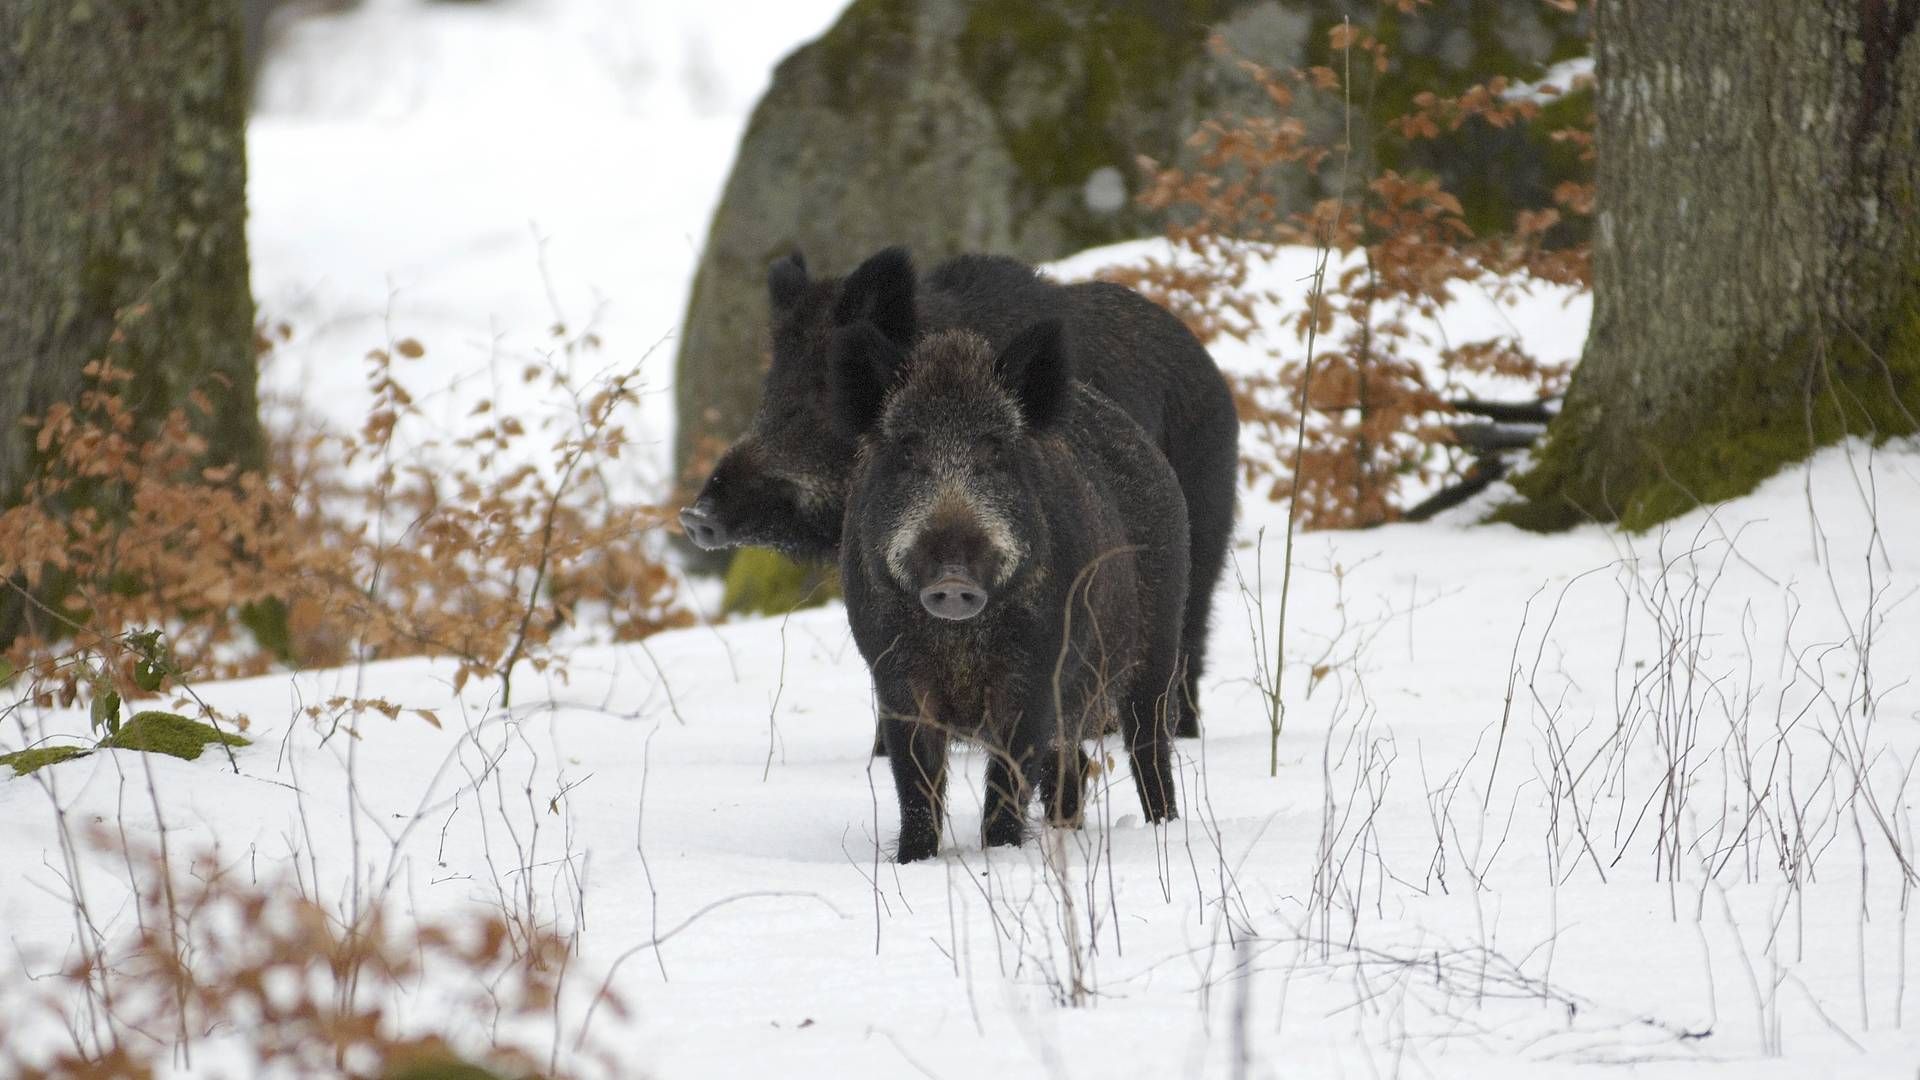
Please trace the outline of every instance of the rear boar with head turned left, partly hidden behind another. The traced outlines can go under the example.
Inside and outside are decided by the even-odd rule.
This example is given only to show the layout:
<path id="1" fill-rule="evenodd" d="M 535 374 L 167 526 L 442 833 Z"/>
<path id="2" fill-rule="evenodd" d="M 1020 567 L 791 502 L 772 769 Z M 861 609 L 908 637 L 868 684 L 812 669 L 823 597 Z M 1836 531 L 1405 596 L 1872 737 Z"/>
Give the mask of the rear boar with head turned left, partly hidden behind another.
<path id="1" fill-rule="evenodd" d="M 1031 323 L 1060 319 L 1075 379 L 1133 417 L 1187 500 L 1190 592 L 1175 728 L 1198 734 L 1196 690 L 1233 532 L 1240 423 L 1225 379 L 1187 327 L 1119 284 L 1058 284 L 998 256 L 960 256 L 920 277 L 904 248 L 874 254 L 845 279 L 808 277 L 799 254 L 787 256 L 768 269 L 768 302 L 774 356 L 760 409 L 682 511 L 687 536 L 703 548 L 835 555 L 852 459 L 826 379 L 835 327 L 872 323 L 900 350 L 922 334 L 972 331 L 998 350 Z"/>

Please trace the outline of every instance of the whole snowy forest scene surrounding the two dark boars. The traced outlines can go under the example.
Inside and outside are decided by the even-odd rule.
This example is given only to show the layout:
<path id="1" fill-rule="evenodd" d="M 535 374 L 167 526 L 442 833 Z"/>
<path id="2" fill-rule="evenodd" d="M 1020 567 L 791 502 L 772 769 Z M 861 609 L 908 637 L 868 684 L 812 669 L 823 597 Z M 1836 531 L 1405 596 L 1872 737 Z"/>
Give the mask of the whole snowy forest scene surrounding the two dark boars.
<path id="1" fill-rule="evenodd" d="M 1910 1076 L 1916 31 L 6 4 L 0 1074 Z M 897 867 L 833 573 L 678 538 L 887 244 L 1229 375 L 1171 824 Z"/>

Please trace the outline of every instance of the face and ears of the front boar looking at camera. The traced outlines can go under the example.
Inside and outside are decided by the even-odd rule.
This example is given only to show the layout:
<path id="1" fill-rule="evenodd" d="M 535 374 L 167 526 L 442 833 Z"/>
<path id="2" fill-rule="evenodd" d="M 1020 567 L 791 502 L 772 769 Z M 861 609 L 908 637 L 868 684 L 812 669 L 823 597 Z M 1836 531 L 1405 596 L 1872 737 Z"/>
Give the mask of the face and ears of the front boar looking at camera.
<path id="1" fill-rule="evenodd" d="M 947 332 L 910 357 L 860 323 L 837 334 L 833 369 L 835 415 L 866 438 L 860 540 L 927 615 L 981 615 L 1044 542 L 1041 440 L 1069 392 L 1060 323 L 1000 356 Z"/>

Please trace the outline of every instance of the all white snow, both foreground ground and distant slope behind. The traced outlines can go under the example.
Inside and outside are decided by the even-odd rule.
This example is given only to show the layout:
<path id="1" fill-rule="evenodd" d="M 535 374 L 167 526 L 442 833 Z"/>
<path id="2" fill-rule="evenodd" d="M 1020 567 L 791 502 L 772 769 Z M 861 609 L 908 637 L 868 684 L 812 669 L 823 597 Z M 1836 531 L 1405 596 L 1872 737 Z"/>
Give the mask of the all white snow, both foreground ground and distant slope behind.
<path id="1" fill-rule="evenodd" d="M 257 296 L 296 331 L 271 379 L 349 425 L 359 356 L 411 334 L 457 415 L 555 319 L 536 236 L 564 317 L 637 357 L 680 319 L 768 65 L 831 8 L 394 0 L 300 27 L 250 133 Z M 1509 323 L 1563 359 L 1586 307 L 1469 298 L 1446 332 Z M 104 751 L 0 780 L 0 995 L 75 959 L 60 822 L 102 821 L 340 907 L 532 907 L 580 944 L 563 1063 L 612 972 L 632 1017 L 593 1028 L 630 1076 L 1912 1076 L 1920 450 L 1834 448 L 1645 536 L 1473 507 L 1302 536 L 1284 642 L 1283 523 L 1242 502 L 1171 826 L 1140 824 L 1121 763 L 1085 830 L 983 851 L 966 753 L 943 855 L 893 867 L 841 607 L 582 648 L 511 711 L 434 661 L 202 684 L 250 719 L 238 773 Z M 303 713 L 336 696 L 409 711 L 351 738 Z M 86 732 L 19 719 L 6 749 Z M 127 865 L 79 867 L 84 932 L 131 934 Z M 232 1040 L 177 1070 L 221 1074 Z"/>

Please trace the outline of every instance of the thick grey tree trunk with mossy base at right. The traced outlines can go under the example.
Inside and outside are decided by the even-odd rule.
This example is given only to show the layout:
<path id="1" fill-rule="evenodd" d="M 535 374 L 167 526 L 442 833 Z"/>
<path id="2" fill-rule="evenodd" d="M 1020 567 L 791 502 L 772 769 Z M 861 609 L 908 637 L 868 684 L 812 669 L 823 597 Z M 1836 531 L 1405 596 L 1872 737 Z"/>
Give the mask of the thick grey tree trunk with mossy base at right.
<path id="1" fill-rule="evenodd" d="M 1645 528 L 1920 413 L 1920 0 L 1601 0 L 1594 327 L 1526 502 Z"/>

